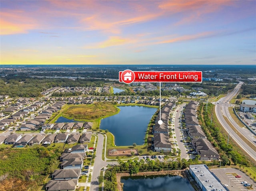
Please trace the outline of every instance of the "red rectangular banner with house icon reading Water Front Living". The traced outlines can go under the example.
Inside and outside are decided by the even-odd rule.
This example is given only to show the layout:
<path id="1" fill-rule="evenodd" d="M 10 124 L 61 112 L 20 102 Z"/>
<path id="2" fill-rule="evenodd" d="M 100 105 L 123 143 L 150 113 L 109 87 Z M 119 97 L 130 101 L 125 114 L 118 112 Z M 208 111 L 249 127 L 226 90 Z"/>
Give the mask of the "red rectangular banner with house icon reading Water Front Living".
<path id="1" fill-rule="evenodd" d="M 202 82 L 202 71 L 131 71 L 119 72 L 119 82 Z"/>

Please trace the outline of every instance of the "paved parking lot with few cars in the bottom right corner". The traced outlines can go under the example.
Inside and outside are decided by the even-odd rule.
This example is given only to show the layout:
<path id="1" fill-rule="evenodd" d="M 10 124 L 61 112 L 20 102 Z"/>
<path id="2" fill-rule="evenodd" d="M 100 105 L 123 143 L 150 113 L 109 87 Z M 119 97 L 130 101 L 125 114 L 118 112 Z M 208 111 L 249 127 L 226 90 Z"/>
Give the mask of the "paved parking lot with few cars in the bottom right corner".
<path id="1" fill-rule="evenodd" d="M 210 169 L 219 179 L 222 185 L 226 185 L 231 191 L 246 191 L 248 190 L 241 183 L 242 181 L 246 181 L 252 188 L 256 189 L 256 183 L 250 179 L 245 173 L 234 169 L 234 168 L 221 168 L 221 169 Z M 236 178 L 236 175 L 240 175 L 240 178 Z"/>

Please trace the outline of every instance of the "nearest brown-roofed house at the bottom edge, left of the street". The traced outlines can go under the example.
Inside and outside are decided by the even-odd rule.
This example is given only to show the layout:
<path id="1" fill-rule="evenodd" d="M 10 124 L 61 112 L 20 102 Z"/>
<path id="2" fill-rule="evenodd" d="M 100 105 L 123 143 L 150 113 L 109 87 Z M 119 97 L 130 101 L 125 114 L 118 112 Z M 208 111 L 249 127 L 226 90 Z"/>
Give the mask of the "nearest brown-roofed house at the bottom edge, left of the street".
<path id="1" fill-rule="evenodd" d="M 50 180 L 45 188 L 46 191 L 75 191 L 76 180 Z"/>

